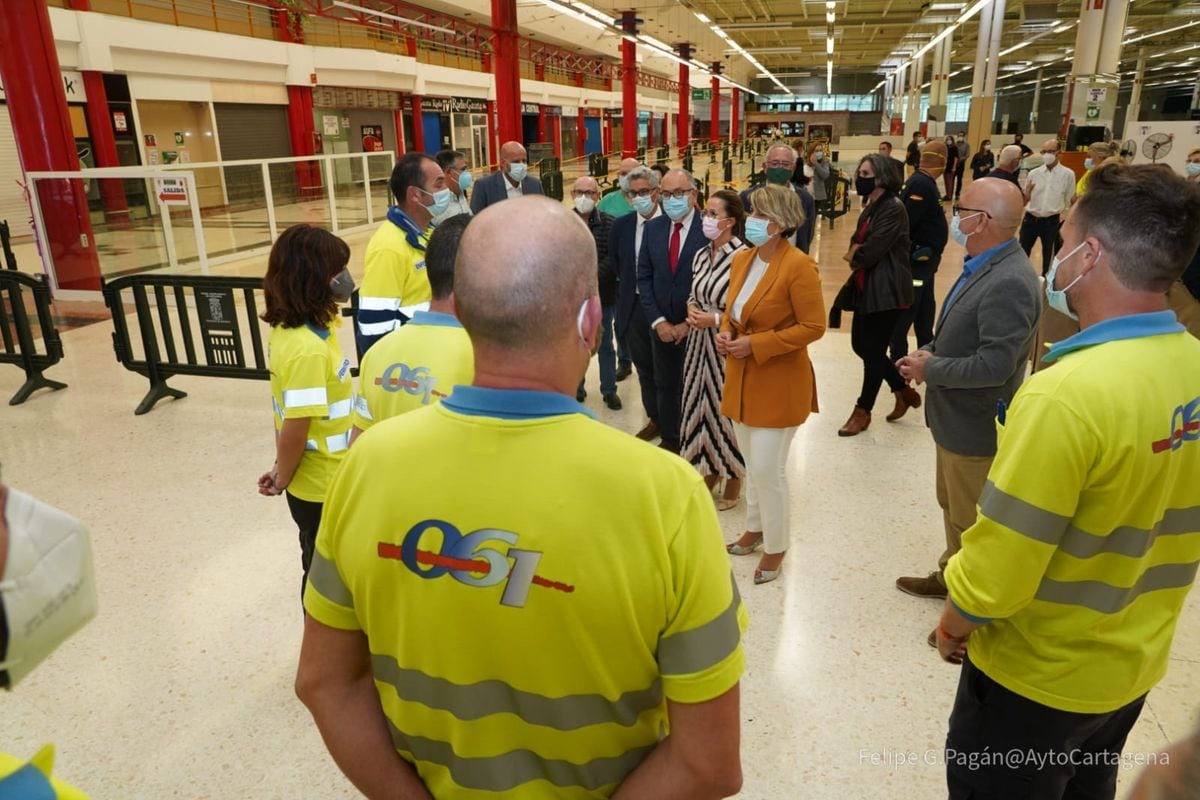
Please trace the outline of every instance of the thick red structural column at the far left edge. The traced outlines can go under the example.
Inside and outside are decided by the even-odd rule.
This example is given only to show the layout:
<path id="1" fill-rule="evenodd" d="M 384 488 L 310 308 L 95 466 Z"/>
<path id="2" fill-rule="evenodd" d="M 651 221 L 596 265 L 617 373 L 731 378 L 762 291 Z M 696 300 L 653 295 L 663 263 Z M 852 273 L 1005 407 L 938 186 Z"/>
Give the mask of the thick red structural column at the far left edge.
<path id="1" fill-rule="evenodd" d="M 67 95 L 46 0 L 0 2 L 0 79 L 22 169 L 77 172 Z M 106 112 L 107 113 L 107 112 Z M 100 258 L 82 180 L 37 185 L 48 249 L 61 289 L 98 290 Z"/>

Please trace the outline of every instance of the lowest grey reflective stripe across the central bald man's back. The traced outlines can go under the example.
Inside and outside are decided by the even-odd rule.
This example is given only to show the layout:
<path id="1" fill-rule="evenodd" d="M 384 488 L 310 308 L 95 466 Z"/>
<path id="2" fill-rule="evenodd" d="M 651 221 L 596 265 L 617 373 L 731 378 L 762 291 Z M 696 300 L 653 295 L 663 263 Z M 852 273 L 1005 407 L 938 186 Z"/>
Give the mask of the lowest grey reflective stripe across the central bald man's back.
<path id="1" fill-rule="evenodd" d="M 388 720 L 388 727 L 396 750 L 410 753 L 415 760 L 439 764 L 450 771 L 450 777 L 458 786 L 482 792 L 512 792 L 530 781 L 546 781 L 564 789 L 595 792 L 624 781 L 658 746 L 655 742 L 635 747 L 620 756 L 593 758 L 582 764 L 542 758 L 529 750 L 467 758 L 455 753 L 450 742 L 406 734 L 391 720 Z"/>

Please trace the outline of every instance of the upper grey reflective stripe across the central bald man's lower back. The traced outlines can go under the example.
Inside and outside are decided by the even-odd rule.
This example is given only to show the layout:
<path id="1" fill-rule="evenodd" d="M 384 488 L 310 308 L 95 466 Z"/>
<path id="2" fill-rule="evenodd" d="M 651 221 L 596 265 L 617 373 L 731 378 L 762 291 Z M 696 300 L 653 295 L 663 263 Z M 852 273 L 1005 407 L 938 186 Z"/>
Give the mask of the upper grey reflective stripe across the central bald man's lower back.
<path id="1" fill-rule="evenodd" d="M 317 590 L 320 591 L 320 587 Z M 608 722 L 629 727 L 644 711 L 662 704 L 662 684 L 656 678 L 647 688 L 625 692 L 610 700 L 602 694 L 546 697 L 514 688 L 500 680 L 455 684 L 419 669 L 401 667 L 388 655 L 372 654 L 371 666 L 376 680 L 395 688 L 400 699 L 449 711 L 463 721 L 511 714 L 528 724 L 556 730 L 577 730 Z"/>

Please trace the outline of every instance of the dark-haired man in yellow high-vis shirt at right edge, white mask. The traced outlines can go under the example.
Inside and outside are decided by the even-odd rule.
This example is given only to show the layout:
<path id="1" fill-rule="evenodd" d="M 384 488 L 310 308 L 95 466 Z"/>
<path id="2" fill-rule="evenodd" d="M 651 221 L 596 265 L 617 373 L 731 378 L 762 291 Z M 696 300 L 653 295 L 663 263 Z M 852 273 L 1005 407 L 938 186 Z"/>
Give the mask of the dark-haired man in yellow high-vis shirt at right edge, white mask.
<path id="1" fill-rule="evenodd" d="M 1080 332 L 1001 409 L 946 567 L 952 800 L 1116 793 L 1200 565 L 1200 342 L 1165 305 L 1198 239 L 1200 187 L 1152 164 L 1092 173 L 1063 225 L 1046 296 Z"/>

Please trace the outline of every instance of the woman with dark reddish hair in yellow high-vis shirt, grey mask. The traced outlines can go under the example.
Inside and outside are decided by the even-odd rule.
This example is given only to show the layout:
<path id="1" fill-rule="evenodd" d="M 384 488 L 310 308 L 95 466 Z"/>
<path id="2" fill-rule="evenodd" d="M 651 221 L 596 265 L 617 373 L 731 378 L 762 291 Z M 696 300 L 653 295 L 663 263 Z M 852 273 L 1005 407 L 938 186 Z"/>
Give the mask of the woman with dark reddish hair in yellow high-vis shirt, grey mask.
<path id="1" fill-rule="evenodd" d="M 337 303 L 354 279 L 350 248 L 334 234 L 307 224 L 280 235 L 266 265 L 263 294 L 270 323 L 268 359 L 275 405 L 275 465 L 258 479 L 266 497 L 287 494 L 300 529 L 304 577 L 320 525 L 325 489 L 349 446 L 353 387 L 350 361 L 337 343 Z"/>

